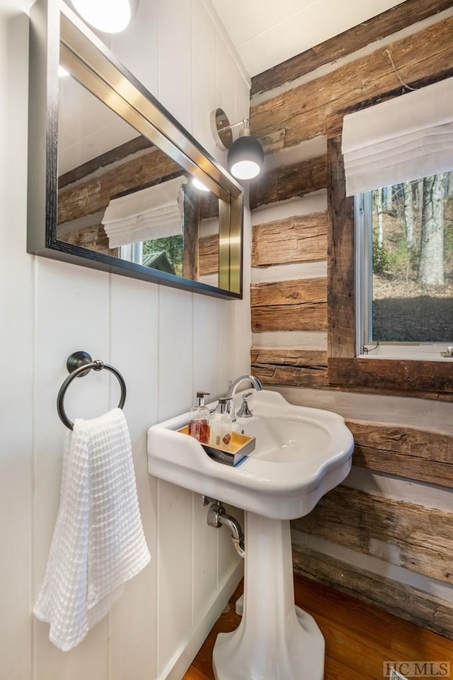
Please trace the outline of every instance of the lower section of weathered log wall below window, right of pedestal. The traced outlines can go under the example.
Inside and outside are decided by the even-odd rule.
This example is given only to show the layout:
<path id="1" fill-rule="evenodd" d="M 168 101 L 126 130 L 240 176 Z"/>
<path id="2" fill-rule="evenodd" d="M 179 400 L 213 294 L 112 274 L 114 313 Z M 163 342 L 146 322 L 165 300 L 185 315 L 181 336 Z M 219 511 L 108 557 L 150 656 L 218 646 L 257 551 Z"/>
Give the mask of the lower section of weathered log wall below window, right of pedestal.
<path id="1" fill-rule="evenodd" d="M 453 436 L 401 426 L 347 421 L 355 438 L 352 464 L 425 485 L 453 488 Z M 416 488 L 416 487 L 415 487 Z M 453 582 L 453 512 L 347 486 L 333 489 L 295 520 L 294 569 L 453 639 L 453 603 L 304 545 L 316 536 L 357 553 Z"/>

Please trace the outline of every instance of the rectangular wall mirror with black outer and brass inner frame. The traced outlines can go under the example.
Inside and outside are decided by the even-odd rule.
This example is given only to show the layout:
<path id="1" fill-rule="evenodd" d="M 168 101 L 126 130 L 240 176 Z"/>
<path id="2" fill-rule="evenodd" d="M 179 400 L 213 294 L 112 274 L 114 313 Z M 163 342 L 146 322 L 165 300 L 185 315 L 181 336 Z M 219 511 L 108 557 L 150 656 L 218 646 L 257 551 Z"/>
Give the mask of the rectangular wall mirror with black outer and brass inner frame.
<path id="1" fill-rule="evenodd" d="M 30 12 L 28 172 L 28 252 L 241 297 L 241 186 L 60 0 Z"/>

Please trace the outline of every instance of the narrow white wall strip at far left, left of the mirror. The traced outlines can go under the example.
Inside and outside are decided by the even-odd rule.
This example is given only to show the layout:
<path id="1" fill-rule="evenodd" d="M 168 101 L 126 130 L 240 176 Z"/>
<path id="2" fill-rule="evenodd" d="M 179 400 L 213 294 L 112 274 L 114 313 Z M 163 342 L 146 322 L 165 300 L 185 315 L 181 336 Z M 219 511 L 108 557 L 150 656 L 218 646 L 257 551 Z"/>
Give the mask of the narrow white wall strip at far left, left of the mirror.
<path id="1" fill-rule="evenodd" d="M 0 678 L 29 678 L 33 263 L 25 256 L 27 22 L 0 22 Z M 6 108 L 4 102 L 8 102 Z M 16 143 L 18 140 L 18 143 Z"/>

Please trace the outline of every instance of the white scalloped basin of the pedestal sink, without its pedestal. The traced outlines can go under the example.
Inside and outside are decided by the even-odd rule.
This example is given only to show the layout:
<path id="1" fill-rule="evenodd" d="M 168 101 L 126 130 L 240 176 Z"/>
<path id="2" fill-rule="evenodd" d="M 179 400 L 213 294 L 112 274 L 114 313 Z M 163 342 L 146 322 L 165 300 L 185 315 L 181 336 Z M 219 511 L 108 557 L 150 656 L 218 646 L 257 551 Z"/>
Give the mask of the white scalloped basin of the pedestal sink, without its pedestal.
<path id="1" fill-rule="evenodd" d="M 241 402 L 236 395 L 235 409 Z M 212 460 L 177 430 L 189 414 L 148 430 L 148 468 L 155 477 L 270 519 L 295 519 L 340 484 L 351 467 L 353 440 L 342 416 L 289 404 L 278 392 L 253 392 L 253 416 L 239 428 L 256 449 L 236 467 Z"/>

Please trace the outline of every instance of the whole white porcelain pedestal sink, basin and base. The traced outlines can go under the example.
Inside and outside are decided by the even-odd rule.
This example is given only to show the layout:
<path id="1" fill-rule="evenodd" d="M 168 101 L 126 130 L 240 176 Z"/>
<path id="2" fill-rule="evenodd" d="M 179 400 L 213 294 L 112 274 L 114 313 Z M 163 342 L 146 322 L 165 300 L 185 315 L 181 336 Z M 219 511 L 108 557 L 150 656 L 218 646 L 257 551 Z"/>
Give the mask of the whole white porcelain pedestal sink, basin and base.
<path id="1" fill-rule="evenodd" d="M 323 636 L 294 607 L 289 520 L 348 475 L 352 434 L 341 416 L 293 406 L 277 392 L 254 392 L 248 403 L 253 417 L 240 424 L 256 450 L 238 467 L 176 431 L 188 423 L 185 413 L 149 429 L 149 473 L 246 511 L 243 617 L 217 636 L 217 680 L 322 680 Z"/>

